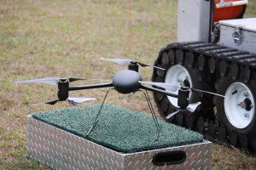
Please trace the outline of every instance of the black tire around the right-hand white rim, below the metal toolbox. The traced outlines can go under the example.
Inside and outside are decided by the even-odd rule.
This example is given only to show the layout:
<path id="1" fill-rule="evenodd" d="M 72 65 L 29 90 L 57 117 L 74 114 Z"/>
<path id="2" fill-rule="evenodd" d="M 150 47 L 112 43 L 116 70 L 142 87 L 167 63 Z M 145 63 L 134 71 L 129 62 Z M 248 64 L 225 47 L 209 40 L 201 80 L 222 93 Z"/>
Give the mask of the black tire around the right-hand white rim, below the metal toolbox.
<path id="1" fill-rule="evenodd" d="M 253 74 L 252 74 L 253 75 Z M 218 94 L 225 94 L 227 88 L 234 82 L 242 82 L 250 88 L 253 93 L 253 99 L 256 101 L 256 77 L 252 76 L 250 82 L 244 82 L 244 77 L 241 75 L 237 80 L 234 80 L 230 75 L 221 78 L 218 81 Z M 216 99 L 217 112 L 218 112 L 218 122 L 220 126 L 226 128 L 226 132 L 229 136 L 230 144 L 238 145 L 241 148 L 247 148 L 249 150 L 256 151 L 256 111 L 254 112 L 253 121 L 246 128 L 236 128 L 228 120 L 224 111 L 224 99 Z"/>

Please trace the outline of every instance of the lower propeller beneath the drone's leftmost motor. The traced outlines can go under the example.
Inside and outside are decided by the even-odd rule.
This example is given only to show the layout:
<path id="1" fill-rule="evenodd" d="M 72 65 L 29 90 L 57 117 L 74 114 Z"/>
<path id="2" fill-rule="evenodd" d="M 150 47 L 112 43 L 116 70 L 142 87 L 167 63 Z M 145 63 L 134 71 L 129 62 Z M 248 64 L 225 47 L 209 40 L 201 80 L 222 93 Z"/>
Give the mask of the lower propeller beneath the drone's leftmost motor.
<path id="1" fill-rule="evenodd" d="M 67 98 L 67 102 L 70 104 L 70 105 L 78 105 L 80 103 L 83 103 L 83 102 L 86 102 L 86 101 L 92 101 L 92 100 L 96 100 L 96 98 L 71 98 L 71 97 L 68 97 Z M 55 105 L 57 102 L 61 101 L 60 99 L 56 99 L 54 101 L 49 101 L 49 102 L 45 102 L 45 103 L 38 103 L 38 104 L 33 104 L 31 106 L 36 106 L 36 105 L 44 105 L 44 104 L 47 104 L 47 105 Z"/>

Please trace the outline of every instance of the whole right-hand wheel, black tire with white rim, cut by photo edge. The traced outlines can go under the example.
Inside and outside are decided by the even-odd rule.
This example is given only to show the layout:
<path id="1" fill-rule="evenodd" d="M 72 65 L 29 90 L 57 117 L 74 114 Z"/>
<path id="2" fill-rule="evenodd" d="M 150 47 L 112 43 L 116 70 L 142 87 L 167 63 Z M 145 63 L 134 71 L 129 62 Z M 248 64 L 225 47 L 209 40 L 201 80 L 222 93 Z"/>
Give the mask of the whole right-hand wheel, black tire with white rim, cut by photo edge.
<path id="1" fill-rule="evenodd" d="M 218 94 L 227 98 L 217 99 L 218 122 L 226 127 L 230 143 L 256 150 L 256 77 L 250 82 L 244 78 L 227 76 L 219 80 Z"/>

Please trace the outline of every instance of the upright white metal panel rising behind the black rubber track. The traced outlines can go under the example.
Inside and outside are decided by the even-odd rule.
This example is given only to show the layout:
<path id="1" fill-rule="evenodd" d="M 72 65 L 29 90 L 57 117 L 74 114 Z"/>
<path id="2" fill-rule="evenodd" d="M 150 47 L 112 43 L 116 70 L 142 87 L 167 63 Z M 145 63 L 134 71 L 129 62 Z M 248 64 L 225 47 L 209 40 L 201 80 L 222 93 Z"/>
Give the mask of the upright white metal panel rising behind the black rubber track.
<path id="1" fill-rule="evenodd" d="M 177 42 L 208 42 L 210 7 L 207 0 L 179 0 L 177 14 Z"/>

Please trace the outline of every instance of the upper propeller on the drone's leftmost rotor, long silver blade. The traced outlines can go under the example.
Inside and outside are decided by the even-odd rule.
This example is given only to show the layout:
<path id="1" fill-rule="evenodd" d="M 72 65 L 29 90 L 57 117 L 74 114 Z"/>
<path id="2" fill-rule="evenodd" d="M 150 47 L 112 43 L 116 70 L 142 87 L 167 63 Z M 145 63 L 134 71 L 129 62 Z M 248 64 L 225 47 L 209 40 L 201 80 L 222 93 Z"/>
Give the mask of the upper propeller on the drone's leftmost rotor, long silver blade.
<path id="1" fill-rule="evenodd" d="M 61 78 L 57 77 L 46 77 L 42 79 L 34 79 L 34 80 L 26 80 L 26 81 L 20 81 L 16 83 L 43 83 L 43 84 L 49 84 L 49 85 L 57 85 L 58 82 L 61 80 Z M 88 79 L 88 78 L 67 78 L 68 82 L 75 82 L 79 80 L 91 80 L 91 81 L 108 81 L 108 80 L 102 80 L 102 79 Z"/>

